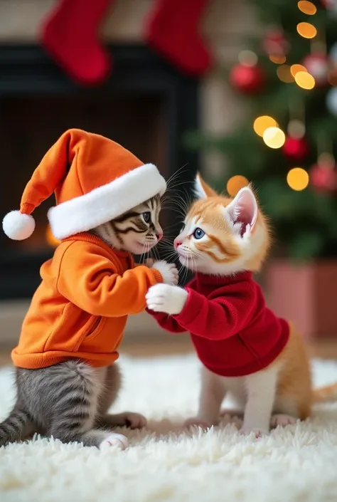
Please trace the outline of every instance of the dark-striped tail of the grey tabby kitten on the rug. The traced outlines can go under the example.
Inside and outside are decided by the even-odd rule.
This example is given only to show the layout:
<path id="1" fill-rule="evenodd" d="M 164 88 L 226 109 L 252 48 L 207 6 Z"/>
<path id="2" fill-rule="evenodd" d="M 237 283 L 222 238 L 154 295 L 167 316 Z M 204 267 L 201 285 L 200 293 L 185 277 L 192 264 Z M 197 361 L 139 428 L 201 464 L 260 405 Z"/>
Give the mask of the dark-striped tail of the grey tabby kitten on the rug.
<path id="1" fill-rule="evenodd" d="M 14 409 L 9 417 L 0 423 L 0 446 L 24 439 L 32 429 L 33 422 L 28 412 Z"/>

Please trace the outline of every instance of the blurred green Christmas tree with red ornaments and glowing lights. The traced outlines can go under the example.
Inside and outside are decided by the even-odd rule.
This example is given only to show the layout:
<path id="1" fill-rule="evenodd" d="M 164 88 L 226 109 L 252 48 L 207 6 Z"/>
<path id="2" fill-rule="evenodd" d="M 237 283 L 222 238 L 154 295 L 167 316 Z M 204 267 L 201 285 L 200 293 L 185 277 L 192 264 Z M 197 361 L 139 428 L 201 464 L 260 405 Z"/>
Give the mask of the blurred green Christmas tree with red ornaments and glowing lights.
<path id="1" fill-rule="evenodd" d="M 264 26 L 226 80 L 247 102 L 226 137 L 190 145 L 227 158 L 218 189 L 248 182 L 278 249 L 296 260 L 337 256 L 337 1 L 250 0 Z"/>

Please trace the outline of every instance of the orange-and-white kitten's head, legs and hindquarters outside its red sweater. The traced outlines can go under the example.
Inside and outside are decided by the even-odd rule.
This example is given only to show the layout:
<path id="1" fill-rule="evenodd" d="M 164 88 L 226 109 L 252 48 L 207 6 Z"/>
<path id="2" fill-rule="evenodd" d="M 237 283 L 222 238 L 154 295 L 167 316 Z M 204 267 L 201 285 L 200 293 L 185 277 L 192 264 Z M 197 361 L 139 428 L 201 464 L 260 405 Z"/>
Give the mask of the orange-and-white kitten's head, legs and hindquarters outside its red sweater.
<path id="1" fill-rule="evenodd" d="M 184 228 L 175 239 L 181 263 L 208 275 L 259 271 L 270 239 L 267 221 L 252 189 L 245 187 L 234 199 L 220 197 L 200 176 L 195 189 L 198 201 L 188 211 Z M 306 419 L 313 401 L 336 399 L 337 385 L 313 392 L 303 338 L 294 325 L 289 325 L 286 347 L 264 370 L 225 378 L 204 369 L 198 416 L 187 424 L 217 424 L 228 392 L 244 412 L 242 433 L 253 432 L 256 436 L 269 432 L 270 425 L 277 427 Z"/>

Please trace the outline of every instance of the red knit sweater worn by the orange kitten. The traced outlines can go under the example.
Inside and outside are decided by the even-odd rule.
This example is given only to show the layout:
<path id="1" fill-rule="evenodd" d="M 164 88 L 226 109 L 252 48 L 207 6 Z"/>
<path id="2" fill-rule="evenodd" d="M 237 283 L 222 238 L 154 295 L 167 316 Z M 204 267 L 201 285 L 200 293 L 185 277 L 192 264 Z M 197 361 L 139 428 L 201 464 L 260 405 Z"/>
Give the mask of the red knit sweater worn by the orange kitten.
<path id="1" fill-rule="evenodd" d="M 228 277 L 198 273 L 186 291 L 180 314 L 151 315 L 171 333 L 189 331 L 208 370 L 223 377 L 250 375 L 267 367 L 287 344 L 289 325 L 267 308 L 251 272 Z"/>

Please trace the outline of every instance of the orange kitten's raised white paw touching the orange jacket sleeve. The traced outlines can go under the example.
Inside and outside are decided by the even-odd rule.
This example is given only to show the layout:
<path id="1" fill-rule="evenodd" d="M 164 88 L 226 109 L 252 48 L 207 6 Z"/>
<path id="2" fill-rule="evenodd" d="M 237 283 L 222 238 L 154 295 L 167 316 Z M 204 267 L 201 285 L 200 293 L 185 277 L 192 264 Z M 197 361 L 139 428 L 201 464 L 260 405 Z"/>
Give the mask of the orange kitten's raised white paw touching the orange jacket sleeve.
<path id="1" fill-rule="evenodd" d="M 169 286 L 169 284 L 156 284 L 146 293 L 146 304 L 147 308 L 154 312 L 174 315 L 181 313 L 187 298 L 188 293 L 183 288 Z"/>

